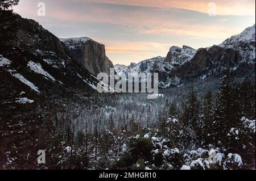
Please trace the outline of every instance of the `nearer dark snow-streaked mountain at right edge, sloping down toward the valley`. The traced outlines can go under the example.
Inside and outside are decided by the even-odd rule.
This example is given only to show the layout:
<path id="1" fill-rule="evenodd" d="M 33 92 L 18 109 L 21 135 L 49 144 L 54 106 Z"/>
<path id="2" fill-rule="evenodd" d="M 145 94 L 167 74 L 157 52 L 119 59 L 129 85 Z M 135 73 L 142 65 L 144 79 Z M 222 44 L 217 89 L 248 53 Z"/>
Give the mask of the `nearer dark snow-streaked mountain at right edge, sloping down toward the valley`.
<path id="1" fill-rule="evenodd" d="M 191 61 L 173 69 L 168 77 L 207 78 L 221 75 L 226 68 L 236 70 L 238 76 L 255 72 L 255 25 L 220 45 L 197 50 Z"/>

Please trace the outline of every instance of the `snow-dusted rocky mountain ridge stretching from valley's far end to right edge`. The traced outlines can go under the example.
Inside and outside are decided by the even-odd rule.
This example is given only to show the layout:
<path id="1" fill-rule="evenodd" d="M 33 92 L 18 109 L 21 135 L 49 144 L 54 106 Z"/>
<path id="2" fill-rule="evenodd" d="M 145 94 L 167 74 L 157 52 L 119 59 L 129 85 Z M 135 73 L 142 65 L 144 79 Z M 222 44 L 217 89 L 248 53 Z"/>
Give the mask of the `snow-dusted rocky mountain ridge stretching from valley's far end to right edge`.
<path id="1" fill-rule="evenodd" d="M 162 88 L 171 85 L 180 86 L 181 82 L 188 78 L 221 76 L 226 66 L 230 66 L 238 74 L 253 73 L 255 70 L 255 24 L 219 45 L 197 50 L 186 45 L 182 48 L 172 46 L 164 60 L 150 62 L 144 60 L 133 64 L 133 67 L 140 66 L 142 62 L 150 66 L 148 72 L 159 74 L 159 87 Z M 126 74 L 136 72 L 129 66 L 115 67 L 118 73 L 124 70 Z"/>

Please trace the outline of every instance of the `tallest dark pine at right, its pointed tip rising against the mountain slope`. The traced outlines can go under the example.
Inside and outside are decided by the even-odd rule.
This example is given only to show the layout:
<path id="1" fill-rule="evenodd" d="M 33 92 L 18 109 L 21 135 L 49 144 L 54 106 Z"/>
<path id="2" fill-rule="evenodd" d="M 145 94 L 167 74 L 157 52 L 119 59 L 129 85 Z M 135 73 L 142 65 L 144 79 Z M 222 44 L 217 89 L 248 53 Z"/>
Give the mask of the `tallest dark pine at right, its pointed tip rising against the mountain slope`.
<path id="1" fill-rule="evenodd" d="M 234 74 L 230 69 L 225 70 L 222 78 L 220 90 L 217 94 L 214 121 L 211 127 L 212 141 L 214 144 L 230 147 L 228 133 L 231 128 L 240 128 L 240 110 L 238 105 L 237 91 L 234 90 L 236 84 L 233 79 Z M 233 145 L 235 146 L 235 145 Z"/>

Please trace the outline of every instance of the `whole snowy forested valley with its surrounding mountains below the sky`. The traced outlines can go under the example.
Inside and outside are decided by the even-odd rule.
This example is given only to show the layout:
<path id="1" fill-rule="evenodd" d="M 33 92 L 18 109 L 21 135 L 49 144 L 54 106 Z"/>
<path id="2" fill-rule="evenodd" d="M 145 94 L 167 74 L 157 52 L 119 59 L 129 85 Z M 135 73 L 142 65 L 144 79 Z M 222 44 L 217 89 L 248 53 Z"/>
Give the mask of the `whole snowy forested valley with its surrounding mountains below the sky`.
<path id="1" fill-rule="evenodd" d="M 255 24 L 125 66 L 88 37 L 6 10 L 0 23 L 0 169 L 255 169 Z M 159 73 L 160 96 L 100 94 L 110 68 Z"/>

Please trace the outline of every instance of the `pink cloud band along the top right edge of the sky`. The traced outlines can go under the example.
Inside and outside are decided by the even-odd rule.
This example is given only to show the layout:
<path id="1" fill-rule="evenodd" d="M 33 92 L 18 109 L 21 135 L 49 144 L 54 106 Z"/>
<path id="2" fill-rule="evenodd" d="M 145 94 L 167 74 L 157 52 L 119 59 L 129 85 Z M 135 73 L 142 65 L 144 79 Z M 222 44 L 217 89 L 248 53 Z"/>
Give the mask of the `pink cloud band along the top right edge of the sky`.
<path id="1" fill-rule="evenodd" d="M 81 2 L 76 0 L 77 2 Z M 207 0 L 82 0 L 84 2 L 110 3 L 115 5 L 129 5 L 142 7 L 159 7 L 163 9 L 186 9 L 207 13 Z M 218 15 L 251 15 L 255 16 L 254 0 L 215 0 Z"/>

